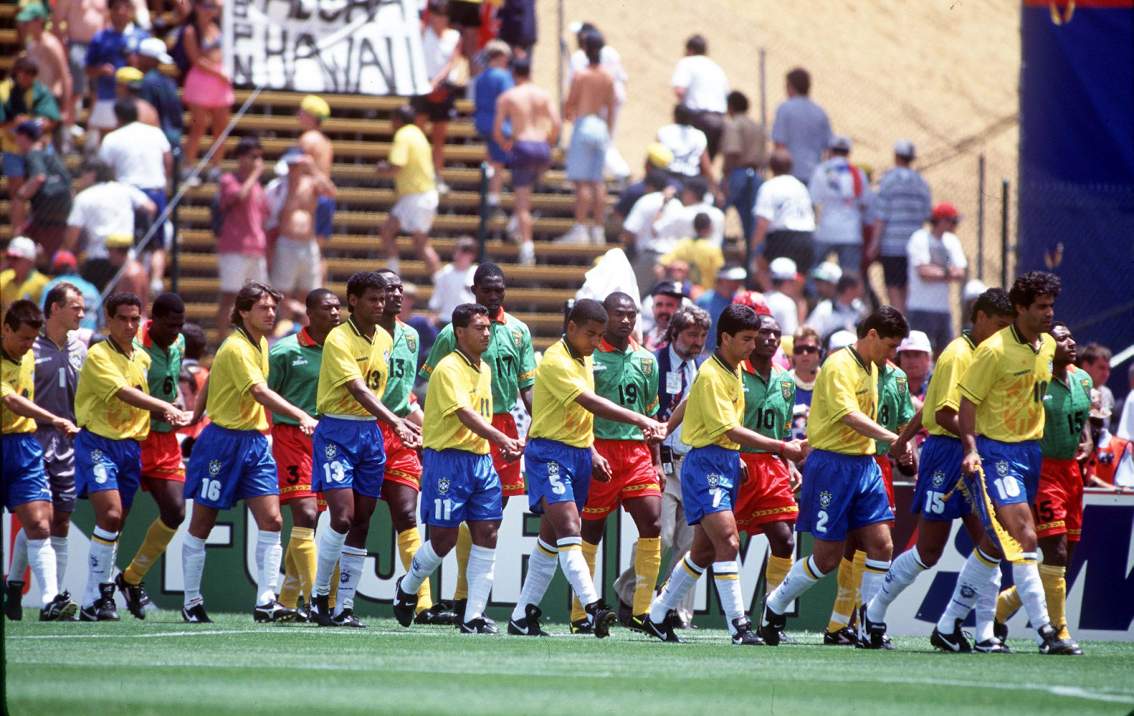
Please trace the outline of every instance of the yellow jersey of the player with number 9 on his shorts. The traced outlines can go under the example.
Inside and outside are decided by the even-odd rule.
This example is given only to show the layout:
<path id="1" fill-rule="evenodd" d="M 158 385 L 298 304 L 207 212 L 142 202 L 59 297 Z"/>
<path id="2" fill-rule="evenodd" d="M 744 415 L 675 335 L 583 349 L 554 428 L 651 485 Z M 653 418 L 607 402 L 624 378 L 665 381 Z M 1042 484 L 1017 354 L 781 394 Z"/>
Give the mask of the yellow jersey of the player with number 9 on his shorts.
<path id="1" fill-rule="evenodd" d="M 150 435 L 150 411 L 127 405 L 116 396 L 130 387 L 150 394 L 150 355 L 126 353 L 113 338 L 91 346 L 75 389 L 75 418 L 79 428 L 109 440 L 144 440 Z"/>

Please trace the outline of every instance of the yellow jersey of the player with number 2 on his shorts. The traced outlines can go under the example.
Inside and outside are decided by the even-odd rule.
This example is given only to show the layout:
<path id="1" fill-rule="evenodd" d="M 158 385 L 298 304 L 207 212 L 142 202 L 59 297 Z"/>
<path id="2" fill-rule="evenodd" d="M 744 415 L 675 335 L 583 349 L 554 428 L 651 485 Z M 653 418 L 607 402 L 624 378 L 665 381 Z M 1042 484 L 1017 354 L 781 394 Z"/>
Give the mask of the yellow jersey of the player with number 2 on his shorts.
<path id="1" fill-rule="evenodd" d="M 854 411 L 871 420 L 878 412 L 878 368 L 858 355 L 854 346 L 836 351 L 815 378 L 807 418 L 807 441 L 816 450 L 844 455 L 873 455 L 874 438 L 843 422 Z"/>

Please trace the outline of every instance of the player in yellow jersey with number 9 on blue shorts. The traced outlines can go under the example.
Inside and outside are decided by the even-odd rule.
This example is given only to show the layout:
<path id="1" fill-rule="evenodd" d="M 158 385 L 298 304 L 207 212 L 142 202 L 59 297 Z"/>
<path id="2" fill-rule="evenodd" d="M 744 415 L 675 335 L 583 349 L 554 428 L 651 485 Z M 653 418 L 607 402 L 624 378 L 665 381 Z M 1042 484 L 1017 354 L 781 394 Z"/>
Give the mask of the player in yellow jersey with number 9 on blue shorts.
<path id="1" fill-rule="evenodd" d="M 118 534 L 142 483 L 142 441 L 150 435 L 151 413 L 174 428 L 189 414 L 150 395 L 150 355 L 134 346 L 142 322 L 142 300 L 113 293 L 103 304 L 107 329 L 102 343 L 91 346 L 78 374 L 75 414 L 75 488 L 94 507 L 94 532 L 86 590 L 79 620 L 118 621 L 115 609 L 115 553 Z"/>

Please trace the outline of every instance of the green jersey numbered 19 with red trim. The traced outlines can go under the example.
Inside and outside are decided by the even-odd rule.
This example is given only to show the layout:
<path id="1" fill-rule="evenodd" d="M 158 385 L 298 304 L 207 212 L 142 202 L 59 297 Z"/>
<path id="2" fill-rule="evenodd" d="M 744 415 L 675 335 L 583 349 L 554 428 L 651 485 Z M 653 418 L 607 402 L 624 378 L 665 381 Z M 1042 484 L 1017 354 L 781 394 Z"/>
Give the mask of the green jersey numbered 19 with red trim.
<path id="1" fill-rule="evenodd" d="M 631 340 L 625 351 L 602 339 L 593 354 L 594 391 L 611 403 L 643 415 L 658 414 L 658 360 Z M 624 422 L 594 416 L 599 440 L 644 440 L 642 431 Z"/>

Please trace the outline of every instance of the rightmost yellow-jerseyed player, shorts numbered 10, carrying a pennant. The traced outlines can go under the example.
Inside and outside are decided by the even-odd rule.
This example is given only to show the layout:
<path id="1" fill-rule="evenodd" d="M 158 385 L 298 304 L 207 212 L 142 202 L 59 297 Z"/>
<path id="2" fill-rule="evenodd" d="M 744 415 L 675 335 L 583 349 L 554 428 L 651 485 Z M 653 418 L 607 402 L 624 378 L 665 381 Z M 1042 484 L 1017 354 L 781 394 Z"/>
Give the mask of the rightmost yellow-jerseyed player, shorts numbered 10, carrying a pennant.
<path id="1" fill-rule="evenodd" d="M 968 615 L 976 593 L 999 576 L 1002 556 L 1012 563 L 1013 581 L 1035 627 L 1040 654 L 1075 649 L 1074 642 L 1060 639 L 1048 617 L 1031 511 L 1040 481 L 1043 398 L 1056 353 L 1055 339 L 1044 331 L 1051 328 L 1059 288 L 1059 277 L 1052 273 L 1032 271 L 1017 278 L 1008 292 L 1016 320 L 976 348 L 960 379 L 957 422 L 965 449 L 963 487 L 984 536 L 965 562 L 938 622 L 942 631 L 940 626 L 955 625 Z M 984 473 L 985 463 L 990 474 Z"/>

